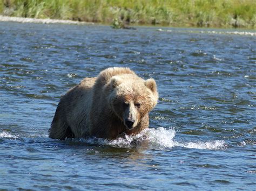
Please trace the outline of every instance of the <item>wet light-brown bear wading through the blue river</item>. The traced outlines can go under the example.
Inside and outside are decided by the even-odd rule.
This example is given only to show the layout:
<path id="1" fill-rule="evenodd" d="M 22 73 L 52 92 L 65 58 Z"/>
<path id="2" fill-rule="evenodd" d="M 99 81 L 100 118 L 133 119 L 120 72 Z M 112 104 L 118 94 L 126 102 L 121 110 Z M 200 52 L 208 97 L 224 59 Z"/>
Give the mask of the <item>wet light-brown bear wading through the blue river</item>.
<path id="1" fill-rule="evenodd" d="M 107 68 L 85 77 L 60 98 L 49 137 L 94 136 L 113 139 L 149 127 L 149 111 L 157 104 L 157 84 L 129 68 Z"/>

